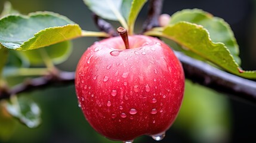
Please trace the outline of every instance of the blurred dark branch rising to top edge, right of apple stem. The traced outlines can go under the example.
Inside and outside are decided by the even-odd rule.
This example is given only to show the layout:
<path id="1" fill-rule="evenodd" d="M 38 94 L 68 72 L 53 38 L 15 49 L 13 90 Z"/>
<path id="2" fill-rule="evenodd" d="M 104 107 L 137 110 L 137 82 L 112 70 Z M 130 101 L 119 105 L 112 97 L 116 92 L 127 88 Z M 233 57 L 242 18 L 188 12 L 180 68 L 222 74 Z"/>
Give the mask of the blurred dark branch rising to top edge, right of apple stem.
<path id="1" fill-rule="evenodd" d="M 159 26 L 158 18 L 162 14 L 162 5 L 164 0 L 149 1 L 149 12 L 147 13 L 146 21 L 143 24 L 143 33 L 153 27 Z"/>

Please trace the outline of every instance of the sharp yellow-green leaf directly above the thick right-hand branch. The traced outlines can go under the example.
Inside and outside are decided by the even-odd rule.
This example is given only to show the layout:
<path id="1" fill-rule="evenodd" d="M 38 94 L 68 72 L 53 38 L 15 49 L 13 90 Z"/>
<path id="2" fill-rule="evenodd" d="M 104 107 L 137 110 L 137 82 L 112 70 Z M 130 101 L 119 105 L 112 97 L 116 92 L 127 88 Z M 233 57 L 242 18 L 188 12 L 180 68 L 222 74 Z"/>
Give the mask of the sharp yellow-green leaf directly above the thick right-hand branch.
<path id="1" fill-rule="evenodd" d="M 212 42 L 208 31 L 201 25 L 181 21 L 165 27 L 163 31 L 149 31 L 144 34 L 171 39 L 183 48 L 198 54 L 230 73 L 248 79 L 256 79 L 256 71 L 240 69 L 224 43 Z"/>

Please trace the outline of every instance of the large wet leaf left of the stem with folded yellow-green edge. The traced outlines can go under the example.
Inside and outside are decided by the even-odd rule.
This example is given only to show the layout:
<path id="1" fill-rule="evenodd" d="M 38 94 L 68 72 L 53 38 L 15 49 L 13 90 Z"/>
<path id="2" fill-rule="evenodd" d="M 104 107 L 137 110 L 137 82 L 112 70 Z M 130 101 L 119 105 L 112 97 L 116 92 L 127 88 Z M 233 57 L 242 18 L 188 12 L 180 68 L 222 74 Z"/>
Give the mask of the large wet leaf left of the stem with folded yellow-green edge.
<path id="1" fill-rule="evenodd" d="M 0 20 L 0 42 L 10 49 L 26 51 L 80 36 L 78 24 L 55 13 L 16 14 Z"/>

